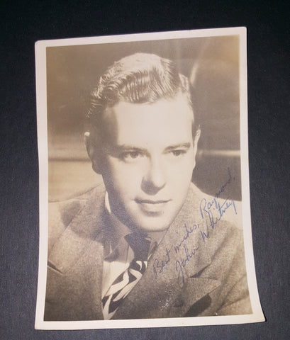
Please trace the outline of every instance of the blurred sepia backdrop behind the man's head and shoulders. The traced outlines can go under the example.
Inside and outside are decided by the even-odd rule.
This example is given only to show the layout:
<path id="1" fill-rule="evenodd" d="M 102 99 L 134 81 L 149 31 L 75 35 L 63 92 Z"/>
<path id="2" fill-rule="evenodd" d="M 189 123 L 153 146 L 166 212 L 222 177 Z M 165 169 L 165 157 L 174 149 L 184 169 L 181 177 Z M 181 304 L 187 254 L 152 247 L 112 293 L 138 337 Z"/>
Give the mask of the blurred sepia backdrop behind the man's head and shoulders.
<path id="1" fill-rule="evenodd" d="M 49 199 L 63 200 L 101 181 L 84 147 L 91 89 L 114 61 L 148 52 L 177 62 L 194 87 L 201 139 L 192 180 L 213 196 L 241 199 L 239 37 L 236 35 L 47 47 Z M 41 136 L 40 136 L 41 137 Z"/>

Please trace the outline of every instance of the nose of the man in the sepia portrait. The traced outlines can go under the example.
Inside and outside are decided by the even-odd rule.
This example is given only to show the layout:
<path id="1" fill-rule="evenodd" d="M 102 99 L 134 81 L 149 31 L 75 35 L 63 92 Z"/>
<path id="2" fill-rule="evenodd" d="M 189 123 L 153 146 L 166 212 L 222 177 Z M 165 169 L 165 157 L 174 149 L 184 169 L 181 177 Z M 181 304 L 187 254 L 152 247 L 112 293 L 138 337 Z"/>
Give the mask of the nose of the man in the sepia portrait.
<path id="1" fill-rule="evenodd" d="M 165 183 L 166 176 L 161 159 L 150 159 L 146 174 L 143 177 L 143 191 L 149 195 L 155 195 L 165 186 Z"/>

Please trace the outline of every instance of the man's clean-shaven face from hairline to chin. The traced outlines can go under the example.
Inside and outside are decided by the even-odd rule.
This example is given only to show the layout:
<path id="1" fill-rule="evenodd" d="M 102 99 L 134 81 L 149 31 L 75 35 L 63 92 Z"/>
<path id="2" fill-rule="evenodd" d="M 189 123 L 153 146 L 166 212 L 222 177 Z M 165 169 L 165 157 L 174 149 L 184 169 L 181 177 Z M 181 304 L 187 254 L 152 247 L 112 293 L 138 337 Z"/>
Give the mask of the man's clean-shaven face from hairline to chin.
<path id="1" fill-rule="evenodd" d="M 111 210 L 130 229 L 167 229 L 184 204 L 195 165 L 193 113 L 184 96 L 120 102 L 105 113 L 101 174 Z"/>

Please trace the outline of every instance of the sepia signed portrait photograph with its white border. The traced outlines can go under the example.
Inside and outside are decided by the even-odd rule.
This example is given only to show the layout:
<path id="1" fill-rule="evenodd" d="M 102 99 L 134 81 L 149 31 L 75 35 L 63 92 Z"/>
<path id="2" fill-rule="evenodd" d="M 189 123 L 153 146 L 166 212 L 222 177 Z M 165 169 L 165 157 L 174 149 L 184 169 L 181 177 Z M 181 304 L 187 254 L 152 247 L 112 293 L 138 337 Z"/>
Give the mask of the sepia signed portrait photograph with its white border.
<path id="1" fill-rule="evenodd" d="M 245 28 L 35 44 L 36 329 L 262 322 Z"/>

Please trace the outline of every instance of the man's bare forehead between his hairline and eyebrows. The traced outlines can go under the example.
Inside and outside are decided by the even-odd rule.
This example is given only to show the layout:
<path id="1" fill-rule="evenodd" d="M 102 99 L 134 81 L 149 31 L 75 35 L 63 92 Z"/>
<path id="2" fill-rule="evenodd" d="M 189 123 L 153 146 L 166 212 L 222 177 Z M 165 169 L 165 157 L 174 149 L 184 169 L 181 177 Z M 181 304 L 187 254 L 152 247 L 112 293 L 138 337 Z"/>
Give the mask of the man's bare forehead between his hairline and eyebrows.
<path id="1" fill-rule="evenodd" d="M 184 96 L 155 103 L 119 102 L 105 113 L 107 142 L 164 146 L 188 142 L 193 120 Z"/>

